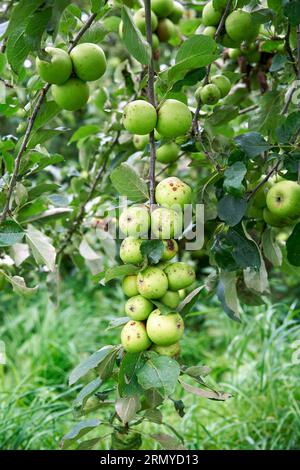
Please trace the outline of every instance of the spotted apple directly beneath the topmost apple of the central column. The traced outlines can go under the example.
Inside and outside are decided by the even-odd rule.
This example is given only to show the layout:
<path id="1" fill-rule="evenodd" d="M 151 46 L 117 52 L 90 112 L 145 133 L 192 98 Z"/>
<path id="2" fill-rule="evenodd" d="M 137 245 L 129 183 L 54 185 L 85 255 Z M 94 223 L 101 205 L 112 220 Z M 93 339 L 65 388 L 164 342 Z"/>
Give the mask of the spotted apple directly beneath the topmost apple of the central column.
<path id="1" fill-rule="evenodd" d="M 159 207 L 151 213 L 151 231 L 162 240 L 178 237 L 182 223 L 182 214 L 173 209 Z"/>

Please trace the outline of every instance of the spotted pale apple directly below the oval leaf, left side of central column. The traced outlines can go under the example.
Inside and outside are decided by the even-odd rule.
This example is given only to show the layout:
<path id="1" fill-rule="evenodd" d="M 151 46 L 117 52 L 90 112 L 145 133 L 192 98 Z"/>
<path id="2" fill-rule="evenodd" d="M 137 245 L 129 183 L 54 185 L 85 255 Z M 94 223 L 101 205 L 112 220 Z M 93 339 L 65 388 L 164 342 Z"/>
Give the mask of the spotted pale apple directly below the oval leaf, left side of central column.
<path id="1" fill-rule="evenodd" d="M 125 209 L 119 219 L 119 227 L 126 236 L 141 237 L 150 228 L 150 215 L 146 206 Z"/>

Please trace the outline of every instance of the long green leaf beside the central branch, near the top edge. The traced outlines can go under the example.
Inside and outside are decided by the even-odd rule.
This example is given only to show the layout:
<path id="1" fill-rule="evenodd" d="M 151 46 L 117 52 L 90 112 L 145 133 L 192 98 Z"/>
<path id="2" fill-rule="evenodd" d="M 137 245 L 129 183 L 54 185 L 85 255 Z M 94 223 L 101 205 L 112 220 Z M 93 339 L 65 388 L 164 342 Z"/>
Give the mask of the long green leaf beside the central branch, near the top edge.
<path id="1" fill-rule="evenodd" d="M 141 64 L 147 65 L 151 60 L 151 48 L 136 27 L 130 10 L 122 8 L 123 40 L 128 52 Z"/>

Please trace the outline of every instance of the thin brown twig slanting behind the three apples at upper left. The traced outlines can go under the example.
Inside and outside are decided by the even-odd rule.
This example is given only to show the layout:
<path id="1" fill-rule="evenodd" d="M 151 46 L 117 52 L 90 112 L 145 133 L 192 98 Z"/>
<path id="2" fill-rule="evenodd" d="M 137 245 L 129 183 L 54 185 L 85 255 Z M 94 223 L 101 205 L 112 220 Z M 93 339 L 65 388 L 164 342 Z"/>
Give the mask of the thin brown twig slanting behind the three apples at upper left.
<path id="1" fill-rule="evenodd" d="M 82 35 L 91 26 L 91 24 L 95 20 L 96 16 L 97 16 L 96 13 L 93 13 L 92 15 L 89 16 L 86 23 L 80 28 L 80 30 L 76 34 L 75 38 L 73 39 L 73 41 L 72 41 L 72 43 L 71 43 L 71 45 L 68 49 L 68 52 L 70 52 L 73 49 L 73 47 L 78 43 L 78 41 L 80 40 Z M 17 157 L 15 159 L 14 171 L 13 171 L 10 183 L 9 183 L 8 194 L 7 194 L 7 198 L 6 198 L 6 202 L 5 202 L 3 212 L 2 212 L 1 217 L 0 217 L 0 222 L 4 222 L 6 220 L 8 214 L 11 211 L 12 195 L 13 195 L 16 183 L 17 183 L 18 176 L 19 176 L 19 169 L 20 169 L 21 159 L 22 159 L 22 156 L 23 156 L 24 152 L 26 151 L 26 148 L 27 148 L 27 145 L 28 145 L 28 142 L 29 142 L 29 139 L 30 139 L 30 135 L 31 135 L 36 117 L 37 117 L 37 115 L 38 115 L 38 113 L 41 109 L 41 106 L 43 104 L 43 101 L 45 99 L 46 94 L 48 93 L 48 91 L 50 89 L 50 86 L 51 85 L 49 83 L 47 83 L 40 90 L 39 97 L 38 97 L 37 102 L 36 102 L 36 104 L 33 108 L 32 114 L 29 118 L 28 125 L 27 125 L 27 128 L 26 128 L 26 132 L 25 132 L 25 135 L 24 135 L 24 139 L 22 141 L 22 144 L 21 144 L 20 149 L 18 151 Z"/>

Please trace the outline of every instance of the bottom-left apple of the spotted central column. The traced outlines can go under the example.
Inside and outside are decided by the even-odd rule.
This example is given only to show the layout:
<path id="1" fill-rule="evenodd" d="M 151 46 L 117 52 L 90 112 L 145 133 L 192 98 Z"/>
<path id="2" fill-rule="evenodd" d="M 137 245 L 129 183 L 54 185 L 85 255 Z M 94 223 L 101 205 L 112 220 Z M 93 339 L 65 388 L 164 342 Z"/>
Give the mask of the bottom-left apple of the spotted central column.
<path id="1" fill-rule="evenodd" d="M 130 320 L 121 331 L 121 343 L 127 352 L 146 351 L 151 346 L 145 324 Z"/>

